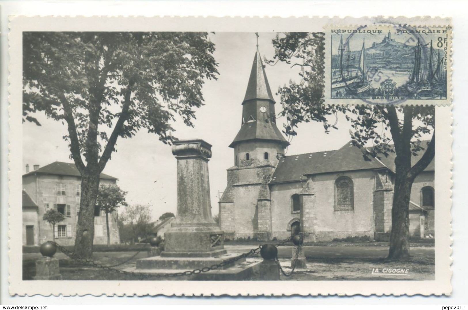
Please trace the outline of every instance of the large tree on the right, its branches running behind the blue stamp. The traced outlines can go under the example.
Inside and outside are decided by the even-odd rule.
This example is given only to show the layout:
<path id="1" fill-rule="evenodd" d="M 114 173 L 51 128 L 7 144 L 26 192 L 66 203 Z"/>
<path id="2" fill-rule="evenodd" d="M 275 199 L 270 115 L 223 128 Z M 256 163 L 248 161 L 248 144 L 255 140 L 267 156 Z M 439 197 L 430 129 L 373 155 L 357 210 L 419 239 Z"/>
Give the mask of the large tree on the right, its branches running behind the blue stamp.
<path id="1" fill-rule="evenodd" d="M 282 116 L 287 124 L 287 135 L 297 134 L 295 129 L 301 122 L 321 122 L 326 133 L 337 129 L 330 121 L 333 116 L 343 113 L 351 123 L 350 134 L 353 144 L 363 148 L 374 144 L 368 155 L 388 156 L 395 152 L 395 189 L 392 205 L 392 230 L 390 233 L 389 259 L 409 257 L 409 196 L 416 176 L 432 161 L 435 154 L 434 106 L 395 105 L 325 105 L 324 81 L 324 34 L 285 33 L 273 39 L 274 60 L 292 63 L 300 67 L 300 81 L 290 81 L 281 87 Z M 421 143 L 424 134 L 432 134 L 431 141 Z M 390 142 L 394 145 L 390 145 Z M 424 151 L 416 163 L 413 155 Z"/>

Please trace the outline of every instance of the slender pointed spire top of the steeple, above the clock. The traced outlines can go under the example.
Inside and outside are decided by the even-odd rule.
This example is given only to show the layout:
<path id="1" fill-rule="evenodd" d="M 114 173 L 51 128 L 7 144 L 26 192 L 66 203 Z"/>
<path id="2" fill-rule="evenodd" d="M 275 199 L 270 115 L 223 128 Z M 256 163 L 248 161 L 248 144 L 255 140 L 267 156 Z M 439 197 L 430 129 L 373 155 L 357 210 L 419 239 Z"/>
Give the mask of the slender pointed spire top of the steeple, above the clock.
<path id="1" fill-rule="evenodd" d="M 275 102 L 258 49 L 255 53 L 252 70 L 250 71 L 249 84 L 247 85 L 244 101 L 252 99 L 266 99 Z"/>

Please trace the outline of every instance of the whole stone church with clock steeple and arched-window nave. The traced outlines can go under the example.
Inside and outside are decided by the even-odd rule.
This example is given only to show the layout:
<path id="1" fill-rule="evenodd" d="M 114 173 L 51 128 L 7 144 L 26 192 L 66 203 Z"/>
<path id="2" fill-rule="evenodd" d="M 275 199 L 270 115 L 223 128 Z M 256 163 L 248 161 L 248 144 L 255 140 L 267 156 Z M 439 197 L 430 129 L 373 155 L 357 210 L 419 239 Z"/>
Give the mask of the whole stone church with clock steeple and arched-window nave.
<path id="1" fill-rule="evenodd" d="M 229 145 L 234 166 L 227 169 L 227 188 L 219 200 L 225 238 L 282 240 L 301 232 L 312 242 L 354 236 L 388 240 L 395 154 L 365 160 L 368 150 L 349 141 L 338 150 L 285 156 L 289 142 L 275 115 L 257 51 L 241 128 Z M 413 184 L 409 229 L 414 238 L 434 235 L 433 161 Z"/>

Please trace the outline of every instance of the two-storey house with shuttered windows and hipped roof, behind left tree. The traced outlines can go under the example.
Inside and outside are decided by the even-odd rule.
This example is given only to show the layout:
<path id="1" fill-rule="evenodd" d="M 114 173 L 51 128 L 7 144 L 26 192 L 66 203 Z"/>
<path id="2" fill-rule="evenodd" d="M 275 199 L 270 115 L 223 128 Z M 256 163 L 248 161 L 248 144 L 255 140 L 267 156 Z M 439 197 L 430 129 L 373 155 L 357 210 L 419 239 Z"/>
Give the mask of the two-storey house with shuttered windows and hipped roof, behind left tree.
<path id="1" fill-rule="evenodd" d="M 47 240 L 61 245 L 74 245 L 78 214 L 80 212 L 81 176 L 73 163 L 52 162 L 42 168 L 34 166 L 22 177 L 23 182 L 23 245 L 40 245 Z M 117 184 L 117 178 L 101 173 L 101 184 Z M 43 220 L 44 213 L 55 209 L 65 220 L 52 225 Z M 117 212 L 109 214 L 110 243 L 119 244 Z M 95 207 L 94 244 L 107 244 L 105 213 Z"/>

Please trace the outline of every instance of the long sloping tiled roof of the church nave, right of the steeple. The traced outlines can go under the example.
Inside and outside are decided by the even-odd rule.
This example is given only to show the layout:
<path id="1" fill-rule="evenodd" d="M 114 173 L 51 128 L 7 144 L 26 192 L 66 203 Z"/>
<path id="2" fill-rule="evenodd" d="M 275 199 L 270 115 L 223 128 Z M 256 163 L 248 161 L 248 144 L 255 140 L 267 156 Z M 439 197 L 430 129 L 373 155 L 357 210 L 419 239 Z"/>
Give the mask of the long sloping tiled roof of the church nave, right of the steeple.
<path id="1" fill-rule="evenodd" d="M 429 141 L 423 141 L 422 143 L 427 145 Z M 305 180 L 304 176 L 306 175 L 331 172 L 380 168 L 395 171 L 395 153 L 390 153 L 388 157 L 379 155 L 379 158 L 369 156 L 368 159 L 365 159 L 363 152 L 369 149 L 371 148 L 358 148 L 349 141 L 342 148 L 334 151 L 285 156 L 279 160 L 278 166 L 271 176 L 270 183 L 295 182 L 301 179 Z M 420 151 L 417 156 L 413 156 L 411 158 L 412 165 L 423 154 L 424 150 Z M 434 160 L 424 171 L 434 171 Z"/>

